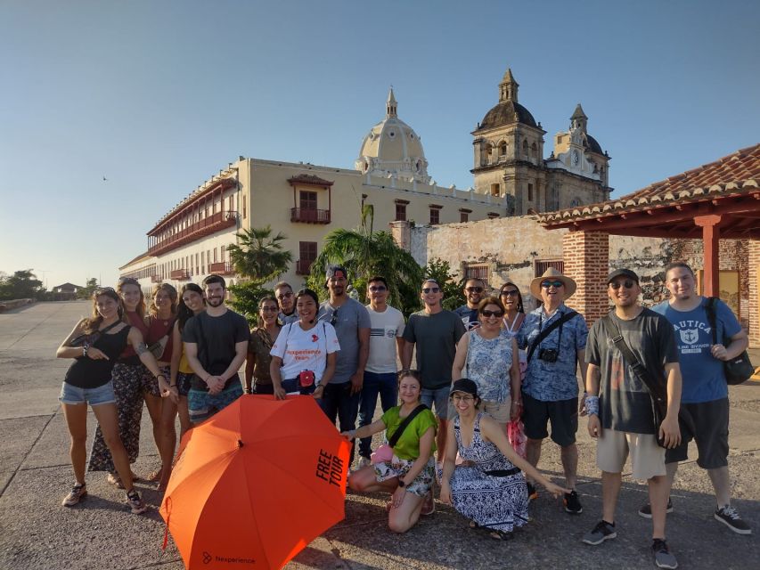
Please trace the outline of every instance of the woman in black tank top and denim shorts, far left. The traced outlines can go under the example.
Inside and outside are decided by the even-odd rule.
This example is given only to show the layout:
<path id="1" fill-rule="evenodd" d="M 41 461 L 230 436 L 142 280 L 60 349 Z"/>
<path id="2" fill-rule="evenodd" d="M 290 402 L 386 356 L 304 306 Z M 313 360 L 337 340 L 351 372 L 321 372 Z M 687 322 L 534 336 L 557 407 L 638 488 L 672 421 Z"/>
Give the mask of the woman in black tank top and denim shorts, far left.
<path id="1" fill-rule="evenodd" d="M 135 514 L 147 509 L 133 485 L 127 450 L 121 443 L 118 428 L 117 396 L 111 372 L 119 354 L 127 346 L 135 349 L 137 358 L 148 370 L 161 378 L 159 365 L 143 342 L 140 330 L 122 321 L 124 308 L 114 289 L 95 289 L 93 315 L 82 319 L 61 346 L 58 358 L 73 358 L 61 387 L 61 406 L 71 436 L 70 457 L 74 468 L 74 486 L 63 500 L 66 507 L 76 505 L 86 495 L 85 463 L 87 442 L 87 404 L 98 420 L 98 430 L 109 451 L 109 460 L 127 490 L 127 504 Z M 142 404 L 141 404 L 142 405 Z"/>

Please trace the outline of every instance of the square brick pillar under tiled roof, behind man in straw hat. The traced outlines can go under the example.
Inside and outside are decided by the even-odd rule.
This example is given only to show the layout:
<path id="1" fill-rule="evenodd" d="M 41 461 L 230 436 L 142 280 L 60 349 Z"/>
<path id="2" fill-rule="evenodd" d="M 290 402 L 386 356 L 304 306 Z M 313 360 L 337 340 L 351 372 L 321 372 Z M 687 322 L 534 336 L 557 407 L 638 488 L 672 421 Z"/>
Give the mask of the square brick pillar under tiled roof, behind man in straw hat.
<path id="1" fill-rule="evenodd" d="M 589 327 L 609 311 L 609 233 L 568 232 L 562 237 L 565 274 L 578 285 L 568 306 L 584 315 Z"/>

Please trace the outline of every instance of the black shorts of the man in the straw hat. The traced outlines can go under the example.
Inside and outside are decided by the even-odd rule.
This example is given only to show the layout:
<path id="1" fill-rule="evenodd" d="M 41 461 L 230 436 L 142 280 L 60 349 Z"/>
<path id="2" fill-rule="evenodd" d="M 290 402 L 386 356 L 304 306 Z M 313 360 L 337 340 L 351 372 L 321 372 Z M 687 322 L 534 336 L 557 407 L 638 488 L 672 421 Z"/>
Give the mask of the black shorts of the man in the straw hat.
<path id="1" fill-rule="evenodd" d="M 522 394 L 522 422 L 525 435 L 529 439 L 543 439 L 549 436 L 547 422 L 552 422 L 552 442 L 567 447 L 576 443 L 578 431 L 578 398 L 543 402 Z"/>

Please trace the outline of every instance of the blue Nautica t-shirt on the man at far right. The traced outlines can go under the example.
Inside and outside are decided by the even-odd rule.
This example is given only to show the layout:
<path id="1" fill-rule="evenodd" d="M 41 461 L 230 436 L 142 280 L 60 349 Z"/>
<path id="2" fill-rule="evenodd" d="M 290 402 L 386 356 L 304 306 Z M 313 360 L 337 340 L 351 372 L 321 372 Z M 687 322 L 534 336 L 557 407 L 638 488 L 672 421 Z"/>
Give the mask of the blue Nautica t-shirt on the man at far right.
<path id="1" fill-rule="evenodd" d="M 675 330 L 683 379 L 683 403 L 712 402 L 728 397 L 723 361 L 710 354 L 710 347 L 714 344 L 713 330 L 705 305 L 707 299 L 703 298 L 702 304 L 691 311 L 678 311 L 667 301 L 653 307 L 654 311 L 666 316 Z M 728 344 L 723 339 L 738 334 L 741 325 L 723 301 L 716 303 L 715 316 L 718 342 Z"/>

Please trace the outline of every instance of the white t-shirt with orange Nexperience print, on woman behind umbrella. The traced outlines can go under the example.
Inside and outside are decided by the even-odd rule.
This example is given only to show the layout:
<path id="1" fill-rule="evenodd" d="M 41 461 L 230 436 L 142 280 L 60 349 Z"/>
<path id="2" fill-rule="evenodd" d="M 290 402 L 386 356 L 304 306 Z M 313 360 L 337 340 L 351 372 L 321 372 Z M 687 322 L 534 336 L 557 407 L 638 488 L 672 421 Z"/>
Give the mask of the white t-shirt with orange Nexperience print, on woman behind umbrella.
<path id="1" fill-rule="evenodd" d="M 335 329 L 329 322 L 317 322 L 309 330 L 301 329 L 298 322 L 282 327 L 269 354 L 282 358 L 280 377 L 283 380 L 298 377 L 301 371 L 313 371 L 319 382 L 327 366 L 327 354 L 340 350 Z"/>

